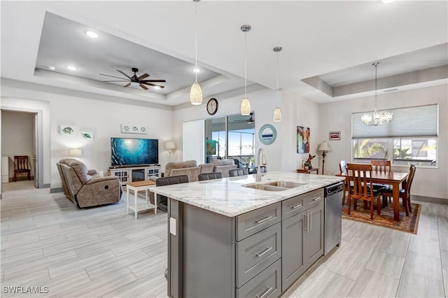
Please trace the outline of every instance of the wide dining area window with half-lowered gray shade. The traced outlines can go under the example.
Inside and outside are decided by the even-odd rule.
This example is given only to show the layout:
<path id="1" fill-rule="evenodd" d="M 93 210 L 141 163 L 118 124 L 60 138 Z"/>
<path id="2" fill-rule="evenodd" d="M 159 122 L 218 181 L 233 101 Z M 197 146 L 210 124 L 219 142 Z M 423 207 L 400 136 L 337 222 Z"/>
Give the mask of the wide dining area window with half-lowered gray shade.
<path id="1" fill-rule="evenodd" d="M 386 125 L 369 126 L 352 114 L 353 162 L 389 159 L 395 166 L 437 166 L 438 106 L 416 106 L 392 110 Z"/>

